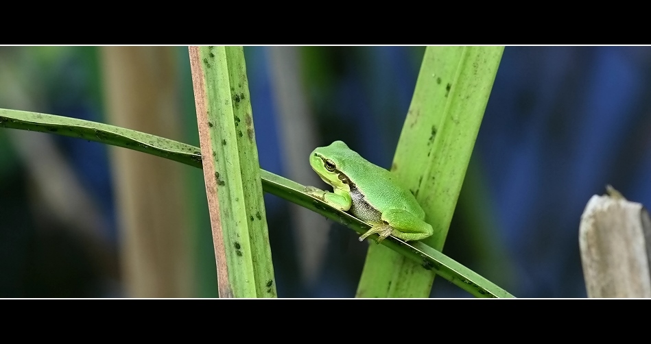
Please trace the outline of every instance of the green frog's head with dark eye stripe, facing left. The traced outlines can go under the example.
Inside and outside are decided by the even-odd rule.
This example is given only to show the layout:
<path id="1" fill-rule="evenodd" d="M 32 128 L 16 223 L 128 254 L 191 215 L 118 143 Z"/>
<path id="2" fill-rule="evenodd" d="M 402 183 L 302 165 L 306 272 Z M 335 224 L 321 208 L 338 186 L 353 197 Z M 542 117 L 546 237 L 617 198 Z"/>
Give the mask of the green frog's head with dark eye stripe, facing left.
<path id="1" fill-rule="evenodd" d="M 346 162 L 354 161 L 354 156 L 358 154 L 345 143 L 335 141 L 329 146 L 314 149 L 309 156 L 309 164 L 319 177 L 333 188 L 351 191 L 348 186 L 350 180 L 345 171 Z"/>

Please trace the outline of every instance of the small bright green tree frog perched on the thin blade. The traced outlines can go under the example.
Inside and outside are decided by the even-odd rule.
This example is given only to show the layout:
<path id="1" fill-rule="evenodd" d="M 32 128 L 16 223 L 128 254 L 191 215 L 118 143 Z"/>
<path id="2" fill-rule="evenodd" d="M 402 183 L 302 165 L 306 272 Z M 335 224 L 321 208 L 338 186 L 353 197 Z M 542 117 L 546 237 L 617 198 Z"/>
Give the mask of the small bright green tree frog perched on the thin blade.
<path id="1" fill-rule="evenodd" d="M 312 151 L 309 164 L 333 193 L 308 186 L 314 197 L 372 225 L 359 237 L 379 234 L 377 243 L 387 236 L 404 241 L 421 240 L 434 232 L 425 211 L 410 191 L 401 188 L 386 169 L 368 162 L 342 141 Z"/>

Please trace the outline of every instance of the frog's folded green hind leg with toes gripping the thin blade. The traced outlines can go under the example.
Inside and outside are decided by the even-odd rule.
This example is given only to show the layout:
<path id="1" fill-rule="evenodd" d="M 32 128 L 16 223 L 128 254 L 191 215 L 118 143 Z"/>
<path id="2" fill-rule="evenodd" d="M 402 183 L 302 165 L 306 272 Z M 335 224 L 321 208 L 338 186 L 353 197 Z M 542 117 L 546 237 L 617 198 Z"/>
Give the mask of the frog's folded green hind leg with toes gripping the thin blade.
<path id="1" fill-rule="evenodd" d="M 367 236 L 376 233 L 379 234 L 377 243 L 380 243 L 390 235 L 404 241 L 421 240 L 431 236 L 434 230 L 429 223 L 418 219 L 411 212 L 390 209 L 382 213 L 382 223 L 373 225 L 370 230 L 359 237 L 359 241 L 363 241 Z"/>

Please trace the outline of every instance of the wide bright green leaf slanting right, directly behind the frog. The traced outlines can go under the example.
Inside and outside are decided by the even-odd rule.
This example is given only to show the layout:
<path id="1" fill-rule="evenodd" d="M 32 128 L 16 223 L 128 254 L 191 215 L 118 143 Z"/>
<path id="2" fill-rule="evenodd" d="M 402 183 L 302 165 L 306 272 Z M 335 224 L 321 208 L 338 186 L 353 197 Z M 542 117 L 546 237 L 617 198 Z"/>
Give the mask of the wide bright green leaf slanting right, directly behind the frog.
<path id="1" fill-rule="evenodd" d="M 504 47 L 427 47 L 391 171 L 425 210 L 441 251 Z M 366 256 L 359 297 L 428 297 L 434 273 L 381 246 Z"/>

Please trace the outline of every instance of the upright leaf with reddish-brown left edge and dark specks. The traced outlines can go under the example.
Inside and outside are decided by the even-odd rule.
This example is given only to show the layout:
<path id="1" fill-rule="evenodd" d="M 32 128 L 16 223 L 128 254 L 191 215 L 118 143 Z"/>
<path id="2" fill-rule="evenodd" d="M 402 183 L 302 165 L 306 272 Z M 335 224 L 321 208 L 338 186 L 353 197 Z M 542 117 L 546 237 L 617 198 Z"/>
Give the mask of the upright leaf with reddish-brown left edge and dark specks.
<path id="1" fill-rule="evenodd" d="M 189 53 L 220 297 L 276 297 L 244 51 Z"/>

